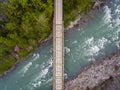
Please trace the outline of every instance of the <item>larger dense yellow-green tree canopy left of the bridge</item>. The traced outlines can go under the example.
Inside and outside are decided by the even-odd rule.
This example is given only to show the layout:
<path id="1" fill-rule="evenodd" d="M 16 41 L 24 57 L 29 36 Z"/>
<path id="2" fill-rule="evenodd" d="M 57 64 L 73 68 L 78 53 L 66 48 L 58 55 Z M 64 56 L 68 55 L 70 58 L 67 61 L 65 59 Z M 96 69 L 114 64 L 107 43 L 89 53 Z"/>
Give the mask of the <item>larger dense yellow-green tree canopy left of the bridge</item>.
<path id="1" fill-rule="evenodd" d="M 8 0 L 0 10 L 5 17 L 0 20 L 0 62 L 20 59 L 51 33 L 52 0 Z"/>

